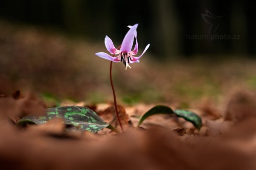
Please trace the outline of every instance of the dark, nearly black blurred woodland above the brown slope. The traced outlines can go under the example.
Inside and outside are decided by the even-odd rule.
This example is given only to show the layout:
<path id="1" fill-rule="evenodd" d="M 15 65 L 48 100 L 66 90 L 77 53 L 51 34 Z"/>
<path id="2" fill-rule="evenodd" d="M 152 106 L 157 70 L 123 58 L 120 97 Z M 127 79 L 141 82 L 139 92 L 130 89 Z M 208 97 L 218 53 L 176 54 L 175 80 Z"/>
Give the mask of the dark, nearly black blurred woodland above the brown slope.
<path id="1" fill-rule="evenodd" d="M 150 42 L 150 50 L 157 58 L 180 54 L 253 55 L 255 6 L 256 2 L 249 0 L 1 0 L 0 17 L 55 28 L 91 41 L 103 41 L 108 34 L 119 43 L 127 25 L 140 23 L 140 45 Z M 206 9 L 213 17 L 210 22 L 218 23 L 211 34 L 230 35 L 230 39 L 187 37 L 209 35 L 210 24 L 201 16 Z M 218 20 L 217 16 L 224 17 Z"/>

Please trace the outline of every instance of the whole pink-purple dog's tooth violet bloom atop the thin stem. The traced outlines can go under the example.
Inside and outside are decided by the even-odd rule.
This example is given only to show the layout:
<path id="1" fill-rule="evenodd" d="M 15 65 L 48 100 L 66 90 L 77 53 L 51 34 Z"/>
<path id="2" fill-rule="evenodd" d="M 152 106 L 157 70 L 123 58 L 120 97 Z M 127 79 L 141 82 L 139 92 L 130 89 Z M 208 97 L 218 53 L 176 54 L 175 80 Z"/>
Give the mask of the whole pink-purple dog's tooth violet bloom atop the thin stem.
<path id="1" fill-rule="evenodd" d="M 129 65 L 130 63 L 139 62 L 140 57 L 143 56 L 143 54 L 147 51 L 150 45 L 148 44 L 145 47 L 143 53 L 139 57 L 134 57 L 134 55 L 136 55 L 138 52 L 137 31 L 136 31 L 138 24 L 135 24 L 134 26 L 128 26 L 128 27 L 130 28 L 130 30 L 125 35 L 124 40 L 122 41 L 120 50 L 115 48 L 112 40 L 108 36 L 105 37 L 105 45 L 107 50 L 111 54 L 119 54 L 117 57 L 111 57 L 110 55 L 104 52 L 96 53 L 97 56 L 102 57 L 104 59 L 108 59 L 113 62 L 122 62 L 125 65 L 125 70 L 127 69 L 127 67 L 131 68 L 131 66 Z M 131 51 L 131 48 L 134 42 L 134 37 L 136 42 L 135 42 L 134 50 Z"/>

